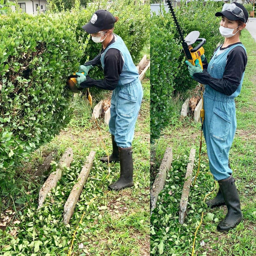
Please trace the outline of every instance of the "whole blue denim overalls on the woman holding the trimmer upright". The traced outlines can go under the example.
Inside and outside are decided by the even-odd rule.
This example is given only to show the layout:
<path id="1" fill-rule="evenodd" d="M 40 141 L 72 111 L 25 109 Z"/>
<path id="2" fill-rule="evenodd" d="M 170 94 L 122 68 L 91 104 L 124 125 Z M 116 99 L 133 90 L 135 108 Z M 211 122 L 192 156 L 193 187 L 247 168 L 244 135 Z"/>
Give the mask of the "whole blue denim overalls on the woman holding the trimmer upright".
<path id="1" fill-rule="evenodd" d="M 245 47 L 242 44 L 233 45 L 218 55 L 220 47 L 208 64 L 207 71 L 211 77 L 221 79 L 226 67 L 228 53 L 234 47 Z M 226 179 L 232 174 L 228 167 L 228 157 L 231 144 L 237 128 L 236 106 L 234 98 L 241 91 L 244 72 L 237 90 L 230 96 L 205 85 L 204 91 L 204 137 L 207 146 L 209 166 L 215 180 Z"/>

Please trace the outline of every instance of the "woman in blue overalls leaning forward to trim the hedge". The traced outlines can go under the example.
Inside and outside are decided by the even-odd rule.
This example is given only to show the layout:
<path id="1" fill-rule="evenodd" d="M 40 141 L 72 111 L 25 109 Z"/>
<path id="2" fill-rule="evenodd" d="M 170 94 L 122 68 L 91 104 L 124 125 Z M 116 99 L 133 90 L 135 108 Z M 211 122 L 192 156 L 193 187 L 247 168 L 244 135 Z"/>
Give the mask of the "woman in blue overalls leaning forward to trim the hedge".
<path id="1" fill-rule="evenodd" d="M 143 90 L 139 74 L 129 50 L 118 35 L 113 34 L 118 17 L 106 10 L 98 10 L 90 22 L 82 28 L 91 34 L 95 43 L 102 44 L 102 50 L 93 60 L 79 67 L 79 72 L 88 73 L 89 69 L 101 63 L 105 79 L 94 80 L 89 76 L 76 73 L 78 86 L 96 86 L 113 91 L 110 106 L 109 131 L 112 137 L 113 152 L 111 162 L 120 161 L 120 178 L 109 185 L 111 190 L 133 186 L 132 140 L 135 122 L 140 110 Z M 108 162 L 108 157 L 101 159 Z"/>

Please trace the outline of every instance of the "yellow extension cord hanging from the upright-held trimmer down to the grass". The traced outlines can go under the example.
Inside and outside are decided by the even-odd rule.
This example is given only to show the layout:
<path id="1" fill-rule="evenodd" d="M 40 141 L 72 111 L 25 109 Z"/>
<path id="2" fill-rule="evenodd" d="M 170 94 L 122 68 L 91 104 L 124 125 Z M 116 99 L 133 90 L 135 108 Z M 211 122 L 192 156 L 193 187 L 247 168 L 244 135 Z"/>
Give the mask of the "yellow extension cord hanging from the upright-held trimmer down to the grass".
<path id="1" fill-rule="evenodd" d="M 203 134 L 203 123 L 204 123 L 204 118 L 205 118 L 205 110 L 204 110 L 204 99 L 203 99 L 203 92 L 202 92 L 202 84 L 200 84 L 200 90 L 201 90 L 201 98 L 202 98 L 202 109 L 200 111 L 200 118 L 202 119 L 202 125 L 201 125 L 201 137 L 200 137 L 200 147 L 199 147 L 199 162 L 198 162 L 198 169 L 197 169 L 197 173 L 196 173 L 196 176 L 195 176 L 195 179 L 194 179 L 194 183 L 193 183 L 193 187 L 195 186 L 195 183 L 196 183 L 196 178 L 199 174 L 199 168 L 200 168 L 200 160 L 201 160 L 201 149 L 202 149 L 202 134 Z M 210 175 L 212 175 L 211 173 L 208 173 Z M 190 184 L 192 186 L 192 182 Z M 215 189 L 217 188 L 217 182 L 215 180 Z M 215 190 L 214 189 L 214 190 Z M 207 198 L 207 196 L 209 196 L 210 194 L 212 194 L 214 192 L 214 190 L 212 190 L 209 194 L 207 194 L 204 198 L 204 202 L 205 202 L 205 199 Z M 194 242 L 193 242 L 193 248 L 192 248 L 192 254 L 191 256 L 194 255 L 194 251 L 195 251 L 195 242 L 196 242 L 196 234 L 197 234 L 197 231 L 199 229 L 199 227 L 201 226 L 202 224 L 202 221 L 203 221 L 203 216 L 204 216 L 204 211 L 202 211 L 202 216 L 201 216 L 201 221 L 196 229 L 196 232 L 195 232 L 195 237 L 194 237 Z"/>

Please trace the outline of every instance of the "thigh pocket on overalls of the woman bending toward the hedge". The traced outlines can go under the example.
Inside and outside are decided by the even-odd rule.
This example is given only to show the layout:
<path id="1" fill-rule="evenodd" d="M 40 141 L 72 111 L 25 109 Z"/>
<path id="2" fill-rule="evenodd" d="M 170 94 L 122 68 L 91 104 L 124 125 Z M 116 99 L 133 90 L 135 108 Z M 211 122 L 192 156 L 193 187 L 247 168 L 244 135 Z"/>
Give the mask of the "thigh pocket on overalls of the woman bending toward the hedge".
<path id="1" fill-rule="evenodd" d="M 131 92 L 130 92 L 131 93 Z M 117 110 L 119 115 L 124 118 L 132 118 L 137 103 L 137 97 L 134 94 L 128 94 L 126 91 L 118 93 Z"/>

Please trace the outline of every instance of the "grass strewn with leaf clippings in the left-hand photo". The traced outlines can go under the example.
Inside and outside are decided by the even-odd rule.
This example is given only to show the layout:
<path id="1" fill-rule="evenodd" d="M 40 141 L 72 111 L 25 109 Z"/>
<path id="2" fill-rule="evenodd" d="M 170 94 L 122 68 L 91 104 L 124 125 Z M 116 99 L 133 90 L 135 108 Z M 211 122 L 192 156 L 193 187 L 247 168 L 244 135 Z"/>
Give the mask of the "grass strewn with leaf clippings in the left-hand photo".
<path id="1" fill-rule="evenodd" d="M 99 131 L 92 119 L 89 104 L 80 95 L 74 96 L 74 117 L 68 127 L 50 143 L 33 153 L 31 162 L 19 170 L 10 194 L 2 198 L 2 222 L 7 216 L 8 227 L 0 229 L 1 255 L 67 255 L 73 231 L 86 211 L 74 240 L 71 255 L 149 255 L 149 155 L 150 155 L 150 82 L 149 72 L 143 80 L 144 97 L 136 123 L 133 141 L 135 187 L 108 191 L 108 185 L 119 177 L 119 163 L 100 162 L 105 155 Z M 107 96 L 110 97 L 111 94 Z M 92 95 L 93 96 L 93 95 Z M 94 102 L 96 103 L 96 102 Z M 108 126 L 99 120 L 108 152 L 112 144 Z M 44 206 L 37 210 L 37 186 L 30 176 L 54 149 L 58 159 L 67 147 L 73 149 L 74 160 L 66 168 L 57 187 L 48 194 Z M 78 200 L 69 225 L 63 224 L 63 207 L 90 151 L 96 151 L 93 167 Z M 57 160 L 58 160 L 57 159 Z M 58 162 L 56 160 L 56 162 Z M 56 165 L 53 165 L 53 169 Z M 88 206 L 90 200 L 94 201 Z M 6 212 L 6 210 L 9 210 Z M 10 221 L 9 221 L 9 220 Z M 16 221 L 16 224 L 13 223 Z M 0 221 L 1 223 L 1 221 Z M 1 227 L 0 227 L 1 228 Z"/>

